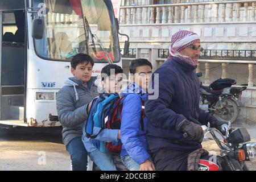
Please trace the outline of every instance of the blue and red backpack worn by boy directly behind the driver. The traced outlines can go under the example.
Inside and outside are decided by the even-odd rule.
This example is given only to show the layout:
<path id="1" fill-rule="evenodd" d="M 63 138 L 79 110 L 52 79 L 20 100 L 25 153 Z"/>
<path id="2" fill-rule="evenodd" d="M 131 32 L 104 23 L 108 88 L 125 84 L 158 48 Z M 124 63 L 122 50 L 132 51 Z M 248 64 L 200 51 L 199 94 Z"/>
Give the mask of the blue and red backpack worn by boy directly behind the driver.
<path id="1" fill-rule="evenodd" d="M 104 129 L 120 129 L 121 114 L 124 100 L 125 97 L 120 98 L 118 93 L 100 94 L 99 97 L 94 98 L 85 125 L 86 137 L 94 139 Z M 144 106 L 143 100 L 142 105 Z M 105 122 L 106 117 L 108 117 L 108 121 Z M 142 109 L 142 130 L 144 130 L 144 117 L 144 109 Z M 97 135 L 92 135 L 94 126 L 101 128 Z M 122 148 L 122 142 L 120 139 L 118 140 L 118 142 L 102 142 L 99 140 L 93 140 L 92 142 L 94 146 L 96 146 L 98 150 L 100 150 L 101 152 L 120 152 Z"/>

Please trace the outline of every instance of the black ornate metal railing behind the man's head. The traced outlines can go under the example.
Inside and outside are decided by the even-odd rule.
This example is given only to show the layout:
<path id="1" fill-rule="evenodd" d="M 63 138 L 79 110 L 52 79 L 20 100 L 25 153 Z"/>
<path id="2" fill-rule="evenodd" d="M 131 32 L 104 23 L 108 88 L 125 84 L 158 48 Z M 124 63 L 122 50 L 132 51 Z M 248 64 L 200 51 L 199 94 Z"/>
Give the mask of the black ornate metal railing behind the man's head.
<path id="1" fill-rule="evenodd" d="M 158 49 L 159 58 L 167 58 L 169 49 Z M 199 59 L 210 60 L 251 60 L 256 61 L 256 50 L 222 50 L 222 49 L 204 49 Z"/>

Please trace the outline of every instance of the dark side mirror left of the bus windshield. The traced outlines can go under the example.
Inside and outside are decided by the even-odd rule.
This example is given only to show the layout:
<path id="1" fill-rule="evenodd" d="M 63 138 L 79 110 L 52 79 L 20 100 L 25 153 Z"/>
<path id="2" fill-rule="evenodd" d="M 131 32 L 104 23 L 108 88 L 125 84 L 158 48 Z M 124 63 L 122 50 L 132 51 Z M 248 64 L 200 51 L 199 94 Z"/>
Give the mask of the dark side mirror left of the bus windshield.
<path id="1" fill-rule="evenodd" d="M 35 18 L 32 21 L 32 38 L 42 39 L 44 34 L 44 20 Z"/>

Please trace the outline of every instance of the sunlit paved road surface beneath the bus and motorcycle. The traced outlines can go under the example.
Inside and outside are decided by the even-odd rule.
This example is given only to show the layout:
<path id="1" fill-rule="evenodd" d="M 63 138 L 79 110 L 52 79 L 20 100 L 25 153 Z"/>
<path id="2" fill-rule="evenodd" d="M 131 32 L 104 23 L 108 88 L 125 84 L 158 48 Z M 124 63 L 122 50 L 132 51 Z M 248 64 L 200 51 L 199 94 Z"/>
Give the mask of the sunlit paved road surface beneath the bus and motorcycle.
<path id="1" fill-rule="evenodd" d="M 256 142 L 256 126 L 247 126 Z M 207 150 L 218 150 L 214 141 L 204 142 Z M 0 129 L 1 170 L 69 170 L 70 159 L 61 138 L 61 128 Z M 256 170 L 256 163 L 250 163 Z"/>

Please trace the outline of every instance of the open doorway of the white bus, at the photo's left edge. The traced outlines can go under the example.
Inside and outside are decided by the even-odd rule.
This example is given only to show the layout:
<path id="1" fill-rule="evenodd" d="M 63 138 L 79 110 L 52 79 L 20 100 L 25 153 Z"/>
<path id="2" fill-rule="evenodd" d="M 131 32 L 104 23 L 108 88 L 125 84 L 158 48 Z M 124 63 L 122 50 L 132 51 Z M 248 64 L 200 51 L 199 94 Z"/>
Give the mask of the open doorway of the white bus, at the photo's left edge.
<path id="1" fill-rule="evenodd" d="M 26 13 L 25 10 L 1 11 L 0 20 L 0 123 L 23 126 L 27 60 Z"/>

